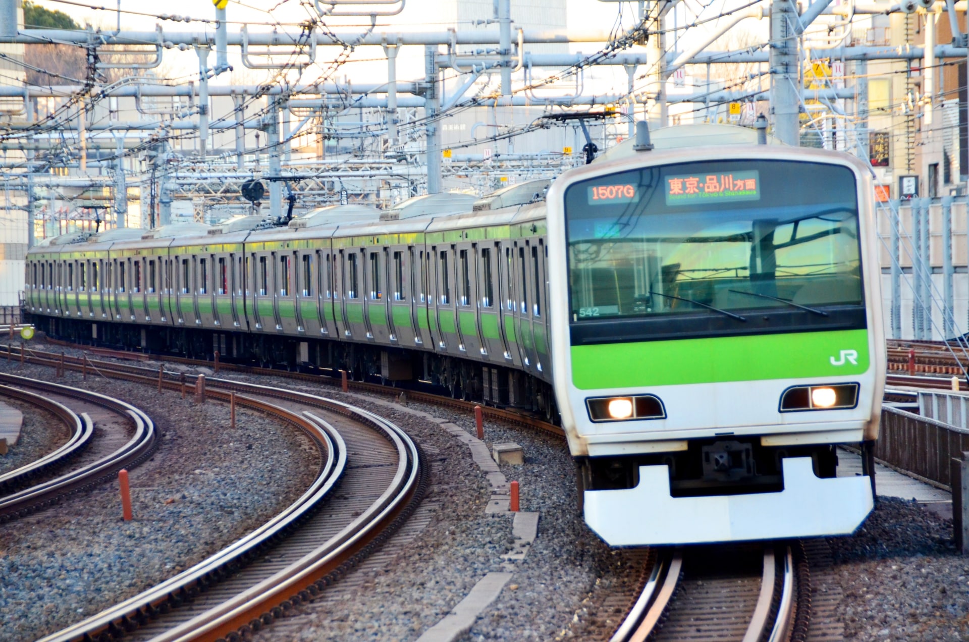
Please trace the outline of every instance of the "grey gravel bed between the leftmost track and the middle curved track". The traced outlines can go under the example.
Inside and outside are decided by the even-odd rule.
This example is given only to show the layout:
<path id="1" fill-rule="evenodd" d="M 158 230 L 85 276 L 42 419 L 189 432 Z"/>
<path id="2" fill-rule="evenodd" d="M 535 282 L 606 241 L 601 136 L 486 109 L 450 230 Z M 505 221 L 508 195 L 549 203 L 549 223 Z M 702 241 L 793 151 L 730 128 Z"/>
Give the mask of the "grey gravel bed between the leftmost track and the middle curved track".
<path id="1" fill-rule="evenodd" d="M 0 370 L 52 377 L 5 360 Z M 159 448 L 131 471 L 132 522 L 121 520 L 114 482 L 0 526 L 4 640 L 36 639 L 200 562 L 295 500 L 318 466 L 308 439 L 262 414 L 239 408 L 230 431 L 222 403 L 91 375 L 86 387 L 147 412 Z"/>

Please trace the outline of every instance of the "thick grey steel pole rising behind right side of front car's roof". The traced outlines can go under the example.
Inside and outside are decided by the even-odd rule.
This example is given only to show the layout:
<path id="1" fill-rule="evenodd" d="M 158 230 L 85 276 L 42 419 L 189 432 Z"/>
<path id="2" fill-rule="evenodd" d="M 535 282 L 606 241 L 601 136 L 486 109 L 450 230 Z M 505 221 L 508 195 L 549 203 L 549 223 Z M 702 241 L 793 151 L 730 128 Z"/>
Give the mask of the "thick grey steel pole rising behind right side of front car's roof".
<path id="1" fill-rule="evenodd" d="M 774 136 L 800 144 L 800 80 L 797 58 L 797 7 L 791 0 L 770 3 L 770 111 Z"/>

